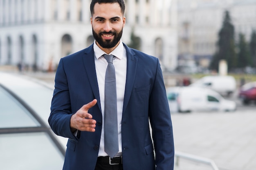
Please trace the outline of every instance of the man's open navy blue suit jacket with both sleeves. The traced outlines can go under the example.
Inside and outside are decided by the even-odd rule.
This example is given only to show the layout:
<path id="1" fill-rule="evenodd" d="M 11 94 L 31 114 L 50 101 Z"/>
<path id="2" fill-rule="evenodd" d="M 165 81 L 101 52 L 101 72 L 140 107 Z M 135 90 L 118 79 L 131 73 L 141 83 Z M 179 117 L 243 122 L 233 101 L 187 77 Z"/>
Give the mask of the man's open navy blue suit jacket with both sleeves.
<path id="1" fill-rule="evenodd" d="M 173 129 L 159 60 L 124 46 L 127 76 L 121 121 L 123 168 L 173 170 Z M 94 98 L 98 102 L 89 113 L 97 121 L 96 131 L 79 131 L 75 137 L 70 118 Z M 64 170 L 94 170 L 102 127 L 99 101 L 93 45 L 62 58 L 56 71 L 49 125 L 57 135 L 69 138 Z"/>

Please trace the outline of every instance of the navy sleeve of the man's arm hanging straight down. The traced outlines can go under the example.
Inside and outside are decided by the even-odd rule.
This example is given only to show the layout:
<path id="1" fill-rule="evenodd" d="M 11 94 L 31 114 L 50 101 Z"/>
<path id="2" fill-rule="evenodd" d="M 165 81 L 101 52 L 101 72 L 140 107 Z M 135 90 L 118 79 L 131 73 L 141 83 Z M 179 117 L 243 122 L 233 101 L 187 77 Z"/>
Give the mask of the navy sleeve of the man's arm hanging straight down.
<path id="1" fill-rule="evenodd" d="M 171 113 L 159 60 L 149 98 L 149 119 L 155 147 L 156 170 L 173 170 L 174 142 Z"/>

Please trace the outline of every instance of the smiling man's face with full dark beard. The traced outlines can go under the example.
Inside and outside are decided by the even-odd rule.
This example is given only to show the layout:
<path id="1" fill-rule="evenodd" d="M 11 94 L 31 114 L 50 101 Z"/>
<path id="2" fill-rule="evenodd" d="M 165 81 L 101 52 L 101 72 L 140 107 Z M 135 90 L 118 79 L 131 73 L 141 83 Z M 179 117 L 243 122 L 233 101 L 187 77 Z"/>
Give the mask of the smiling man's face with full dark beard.
<path id="1" fill-rule="evenodd" d="M 103 50 L 114 50 L 121 39 L 126 18 L 118 3 L 96 3 L 91 17 L 92 34 Z"/>

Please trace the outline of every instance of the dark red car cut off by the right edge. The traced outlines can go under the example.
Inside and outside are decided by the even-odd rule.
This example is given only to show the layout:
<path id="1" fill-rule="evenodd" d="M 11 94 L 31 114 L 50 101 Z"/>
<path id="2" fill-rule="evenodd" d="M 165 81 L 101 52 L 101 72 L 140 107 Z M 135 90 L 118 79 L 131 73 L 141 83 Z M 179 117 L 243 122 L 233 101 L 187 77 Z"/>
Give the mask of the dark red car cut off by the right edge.
<path id="1" fill-rule="evenodd" d="M 242 85 L 238 96 L 244 105 L 248 105 L 251 101 L 256 101 L 256 81 Z"/>

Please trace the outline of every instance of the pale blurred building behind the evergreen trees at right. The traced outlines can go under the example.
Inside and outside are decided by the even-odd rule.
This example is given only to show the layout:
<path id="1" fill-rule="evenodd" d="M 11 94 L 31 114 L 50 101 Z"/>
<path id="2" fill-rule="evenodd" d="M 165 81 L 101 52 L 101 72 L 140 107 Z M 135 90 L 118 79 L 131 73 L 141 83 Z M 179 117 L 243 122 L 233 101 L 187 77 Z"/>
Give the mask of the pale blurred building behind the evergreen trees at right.
<path id="1" fill-rule="evenodd" d="M 252 30 L 256 30 L 256 0 L 178 1 L 180 67 L 209 66 L 211 57 L 216 52 L 218 33 L 226 10 L 231 16 L 236 37 L 243 33 L 249 41 Z"/>

